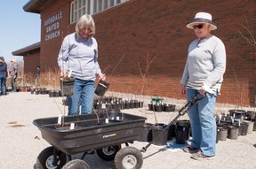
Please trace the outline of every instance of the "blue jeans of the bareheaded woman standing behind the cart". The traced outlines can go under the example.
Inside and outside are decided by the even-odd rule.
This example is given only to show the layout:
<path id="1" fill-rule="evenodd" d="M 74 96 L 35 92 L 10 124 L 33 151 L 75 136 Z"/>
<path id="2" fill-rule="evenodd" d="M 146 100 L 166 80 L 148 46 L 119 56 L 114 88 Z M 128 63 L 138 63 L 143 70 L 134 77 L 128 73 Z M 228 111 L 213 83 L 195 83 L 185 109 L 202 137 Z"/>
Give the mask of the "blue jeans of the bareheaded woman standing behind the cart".
<path id="1" fill-rule="evenodd" d="M 83 81 L 76 79 L 74 83 L 74 94 L 68 97 L 68 115 L 79 114 L 80 103 L 81 114 L 92 112 L 95 81 Z"/>

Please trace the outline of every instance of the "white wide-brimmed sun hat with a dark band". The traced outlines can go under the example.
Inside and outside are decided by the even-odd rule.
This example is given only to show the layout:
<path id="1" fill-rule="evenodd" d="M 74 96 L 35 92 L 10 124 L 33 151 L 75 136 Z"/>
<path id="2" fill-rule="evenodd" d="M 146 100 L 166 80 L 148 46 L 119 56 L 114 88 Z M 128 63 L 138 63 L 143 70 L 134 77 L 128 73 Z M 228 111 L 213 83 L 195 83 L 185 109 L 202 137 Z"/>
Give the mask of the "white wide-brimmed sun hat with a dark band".
<path id="1" fill-rule="evenodd" d="M 188 22 L 186 24 L 186 27 L 194 29 L 193 25 L 195 23 L 208 23 L 211 24 L 211 30 L 217 29 L 216 24 L 212 22 L 212 15 L 207 12 L 197 12 L 195 18 L 192 21 Z"/>

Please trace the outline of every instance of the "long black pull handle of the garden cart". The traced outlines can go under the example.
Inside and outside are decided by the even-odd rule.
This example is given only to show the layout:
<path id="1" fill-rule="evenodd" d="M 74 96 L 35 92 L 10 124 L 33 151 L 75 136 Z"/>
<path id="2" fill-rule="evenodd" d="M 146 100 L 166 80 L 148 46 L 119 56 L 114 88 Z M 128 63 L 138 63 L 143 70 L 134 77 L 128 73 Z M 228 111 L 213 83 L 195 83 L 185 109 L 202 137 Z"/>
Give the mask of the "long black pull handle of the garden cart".
<path id="1" fill-rule="evenodd" d="M 169 128 L 177 119 L 180 118 L 180 116 L 183 116 L 184 114 L 186 114 L 190 109 L 191 107 L 194 105 L 194 104 L 197 104 L 198 101 L 202 100 L 204 97 L 206 96 L 206 94 L 204 96 L 202 96 L 201 94 L 199 94 L 198 92 L 196 92 L 195 95 L 192 96 L 191 100 L 188 101 L 187 104 L 185 104 L 179 112 L 179 114 L 174 118 L 172 119 L 172 121 L 166 126 L 164 127 L 164 130 L 162 130 L 159 134 L 156 135 L 156 137 L 151 141 L 151 142 L 148 142 L 148 144 L 145 146 L 145 147 L 142 147 L 141 148 L 141 152 L 146 152 L 148 147 L 156 140 L 156 138 L 158 138 L 159 135 L 163 134 L 164 131 L 166 130 L 166 128 Z"/>

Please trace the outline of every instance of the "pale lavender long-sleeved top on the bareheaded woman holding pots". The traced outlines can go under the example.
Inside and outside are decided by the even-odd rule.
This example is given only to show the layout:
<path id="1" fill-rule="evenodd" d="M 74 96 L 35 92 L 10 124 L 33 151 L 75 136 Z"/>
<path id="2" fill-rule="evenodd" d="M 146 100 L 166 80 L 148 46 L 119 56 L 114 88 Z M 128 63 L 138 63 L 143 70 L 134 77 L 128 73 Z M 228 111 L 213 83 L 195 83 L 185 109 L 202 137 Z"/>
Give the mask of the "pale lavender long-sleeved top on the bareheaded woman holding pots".
<path id="1" fill-rule="evenodd" d="M 101 73 L 98 63 L 98 43 L 95 38 L 88 40 L 76 33 L 67 35 L 61 45 L 58 57 L 60 70 L 71 72 L 71 76 L 84 81 L 95 81 Z"/>

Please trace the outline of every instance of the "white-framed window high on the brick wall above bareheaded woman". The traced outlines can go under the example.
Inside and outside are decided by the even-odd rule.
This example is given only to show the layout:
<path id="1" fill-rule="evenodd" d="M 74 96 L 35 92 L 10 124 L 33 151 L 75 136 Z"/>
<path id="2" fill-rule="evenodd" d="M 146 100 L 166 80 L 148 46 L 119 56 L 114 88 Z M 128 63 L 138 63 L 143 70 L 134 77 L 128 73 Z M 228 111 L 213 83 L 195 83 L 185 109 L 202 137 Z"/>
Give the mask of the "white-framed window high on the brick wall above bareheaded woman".
<path id="1" fill-rule="evenodd" d="M 70 4 L 70 23 L 75 23 L 84 14 L 94 14 L 107 10 L 129 0 L 75 0 Z"/>

